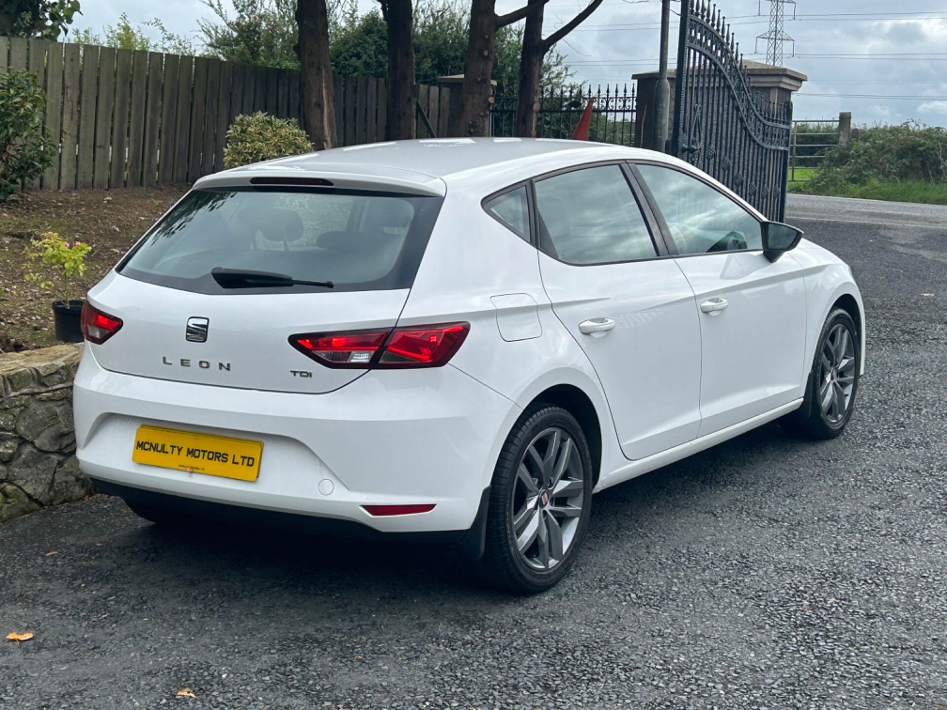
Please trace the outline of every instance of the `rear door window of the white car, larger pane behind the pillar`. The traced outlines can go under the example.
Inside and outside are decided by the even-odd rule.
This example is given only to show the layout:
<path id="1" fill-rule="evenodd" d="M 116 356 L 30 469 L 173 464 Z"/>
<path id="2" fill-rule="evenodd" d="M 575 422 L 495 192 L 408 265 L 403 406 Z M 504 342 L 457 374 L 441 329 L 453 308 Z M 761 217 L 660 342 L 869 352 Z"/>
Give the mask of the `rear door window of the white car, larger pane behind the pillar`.
<path id="1" fill-rule="evenodd" d="M 616 165 L 573 170 L 536 182 L 540 248 L 570 264 L 655 257 L 651 233 Z"/>

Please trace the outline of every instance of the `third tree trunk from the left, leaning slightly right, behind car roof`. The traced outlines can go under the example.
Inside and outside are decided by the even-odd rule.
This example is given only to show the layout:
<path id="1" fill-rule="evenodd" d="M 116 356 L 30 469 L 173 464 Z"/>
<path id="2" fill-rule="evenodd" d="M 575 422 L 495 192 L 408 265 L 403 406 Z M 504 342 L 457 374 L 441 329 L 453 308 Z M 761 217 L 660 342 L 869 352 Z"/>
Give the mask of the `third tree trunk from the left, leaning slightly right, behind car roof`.
<path id="1" fill-rule="evenodd" d="M 490 126 L 493 62 L 495 61 L 495 0 L 473 0 L 467 44 L 467 66 L 455 135 L 486 135 Z"/>

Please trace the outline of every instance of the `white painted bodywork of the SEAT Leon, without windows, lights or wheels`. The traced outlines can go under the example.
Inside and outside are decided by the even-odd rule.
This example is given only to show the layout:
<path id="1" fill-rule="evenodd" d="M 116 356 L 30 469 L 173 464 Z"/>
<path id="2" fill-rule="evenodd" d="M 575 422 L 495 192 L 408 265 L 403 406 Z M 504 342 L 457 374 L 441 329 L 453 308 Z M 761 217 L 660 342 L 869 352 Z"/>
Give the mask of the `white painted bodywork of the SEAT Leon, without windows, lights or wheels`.
<path id="1" fill-rule="evenodd" d="M 517 418 L 550 388 L 577 391 L 594 408 L 596 490 L 791 412 L 832 304 L 850 297 L 864 312 L 849 267 L 831 252 L 802 240 L 773 264 L 759 252 L 659 258 L 592 267 L 600 276 L 588 278 L 481 205 L 546 172 L 621 160 L 697 174 L 676 159 L 619 146 L 442 139 L 353 146 L 202 178 L 195 188 L 317 178 L 439 196 L 443 205 L 410 290 L 205 295 L 107 275 L 89 301 L 125 325 L 103 345 L 86 344 L 82 356 L 74 389 L 82 470 L 131 488 L 381 532 L 456 531 L 474 523 Z M 727 311 L 699 311 L 721 294 Z M 210 318 L 205 344 L 184 340 L 190 310 Z M 616 328 L 581 334 L 578 324 L 594 317 L 615 318 Z M 471 324 L 467 340 L 438 368 L 330 369 L 287 343 L 300 332 L 457 321 Z M 220 347 L 211 352 L 215 336 Z M 229 361 L 253 374 L 235 383 L 215 366 L 163 364 L 166 352 L 171 362 Z M 311 382 L 288 380 L 291 364 L 312 371 Z M 259 479 L 136 464 L 134 431 L 145 423 L 259 438 Z M 362 507 L 395 503 L 436 506 L 393 517 Z"/>

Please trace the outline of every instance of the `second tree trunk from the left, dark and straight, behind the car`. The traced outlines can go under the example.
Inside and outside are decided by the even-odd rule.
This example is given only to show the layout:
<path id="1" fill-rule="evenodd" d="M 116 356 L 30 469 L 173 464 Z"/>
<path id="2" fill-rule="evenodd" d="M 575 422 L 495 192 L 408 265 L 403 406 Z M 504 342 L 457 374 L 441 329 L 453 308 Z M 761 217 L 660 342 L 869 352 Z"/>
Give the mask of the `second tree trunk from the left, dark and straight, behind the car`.
<path id="1" fill-rule="evenodd" d="M 388 122 L 385 140 L 415 137 L 414 28 L 411 0 L 382 4 L 388 25 Z"/>

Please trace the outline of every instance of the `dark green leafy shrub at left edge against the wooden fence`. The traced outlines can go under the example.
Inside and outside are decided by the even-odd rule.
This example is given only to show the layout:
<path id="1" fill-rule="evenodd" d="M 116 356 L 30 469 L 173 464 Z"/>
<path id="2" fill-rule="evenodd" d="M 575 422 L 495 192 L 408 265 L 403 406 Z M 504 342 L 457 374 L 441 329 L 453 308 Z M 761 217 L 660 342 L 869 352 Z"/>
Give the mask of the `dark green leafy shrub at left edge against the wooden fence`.
<path id="1" fill-rule="evenodd" d="M 52 165 L 57 146 L 43 127 L 46 96 L 35 74 L 0 74 L 0 202 Z"/>

